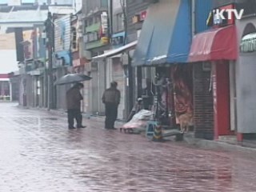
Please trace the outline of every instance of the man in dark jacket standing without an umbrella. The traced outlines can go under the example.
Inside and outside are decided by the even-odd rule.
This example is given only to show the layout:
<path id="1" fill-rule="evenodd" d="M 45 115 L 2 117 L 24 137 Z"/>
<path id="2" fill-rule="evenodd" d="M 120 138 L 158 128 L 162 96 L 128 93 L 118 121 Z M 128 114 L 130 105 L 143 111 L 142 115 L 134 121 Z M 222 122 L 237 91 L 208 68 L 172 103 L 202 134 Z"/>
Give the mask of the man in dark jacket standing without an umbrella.
<path id="1" fill-rule="evenodd" d="M 105 129 L 115 130 L 114 122 L 118 117 L 118 105 L 120 103 L 120 90 L 117 89 L 118 83 L 111 82 L 110 88 L 104 91 L 102 102 L 105 104 Z"/>

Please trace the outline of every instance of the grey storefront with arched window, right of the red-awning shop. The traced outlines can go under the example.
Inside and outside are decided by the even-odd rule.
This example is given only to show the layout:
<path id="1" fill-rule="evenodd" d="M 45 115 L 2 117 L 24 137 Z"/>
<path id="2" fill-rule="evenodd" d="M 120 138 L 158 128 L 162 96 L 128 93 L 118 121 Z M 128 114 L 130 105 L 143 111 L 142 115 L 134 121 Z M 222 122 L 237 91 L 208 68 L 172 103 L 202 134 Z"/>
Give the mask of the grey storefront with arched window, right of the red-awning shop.
<path id="1" fill-rule="evenodd" d="M 254 17 L 242 19 L 237 22 L 237 26 L 240 43 L 236 63 L 237 127 L 238 141 L 242 141 L 255 139 L 256 134 L 256 86 L 254 83 L 256 81 L 256 19 Z"/>

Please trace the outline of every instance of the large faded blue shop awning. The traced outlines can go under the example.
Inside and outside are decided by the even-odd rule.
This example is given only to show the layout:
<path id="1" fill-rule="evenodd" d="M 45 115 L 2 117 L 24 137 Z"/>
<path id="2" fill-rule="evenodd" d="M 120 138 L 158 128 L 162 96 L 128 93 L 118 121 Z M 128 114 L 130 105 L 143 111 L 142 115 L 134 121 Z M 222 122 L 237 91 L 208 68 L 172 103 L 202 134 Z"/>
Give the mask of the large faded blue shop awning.
<path id="1" fill-rule="evenodd" d="M 189 24 L 190 0 L 159 0 L 150 5 L 132 65 L 187 62 L 191 42 Z"/>

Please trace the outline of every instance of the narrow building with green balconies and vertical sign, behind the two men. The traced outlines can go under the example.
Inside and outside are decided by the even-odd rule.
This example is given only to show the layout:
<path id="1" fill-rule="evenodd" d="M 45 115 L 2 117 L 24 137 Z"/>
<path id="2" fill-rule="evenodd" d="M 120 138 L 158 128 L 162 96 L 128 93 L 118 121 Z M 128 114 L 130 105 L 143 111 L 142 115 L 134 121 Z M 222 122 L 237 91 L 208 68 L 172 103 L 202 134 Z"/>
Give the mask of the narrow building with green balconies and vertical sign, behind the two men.
<path id="1" fill-rule="evenodd" d="M 107 0 L 87 0 L 84 5 L 84 54 L 85 58 L 91 60 L 91 57 L 104 54 L 105 50 L 110 49 L 109 7 Z M 90 61 L 87 65 L 84 73 L 90 74 L 92 80 L 85 82 L 89 90 L 86 110 L 90 114 L 102 115 L 105 113 L 101 98 L 106 89 L 106 66 L 102 61 Z"/>

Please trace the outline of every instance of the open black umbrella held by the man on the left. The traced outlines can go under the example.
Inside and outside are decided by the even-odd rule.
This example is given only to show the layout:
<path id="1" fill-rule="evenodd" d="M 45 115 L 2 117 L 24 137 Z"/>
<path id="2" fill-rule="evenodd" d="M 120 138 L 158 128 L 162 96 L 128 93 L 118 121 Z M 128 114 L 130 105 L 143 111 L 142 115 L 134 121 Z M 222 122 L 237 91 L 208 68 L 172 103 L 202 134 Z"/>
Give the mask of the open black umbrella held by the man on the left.
<path id="1" fill-rule="evenodd" d="M 90 79 L 91 77 L 87 76 L 86 74 L 66 74 L 54 82 L 54 85 L 61 86 L 70 83 L 89 81 Z"/>

